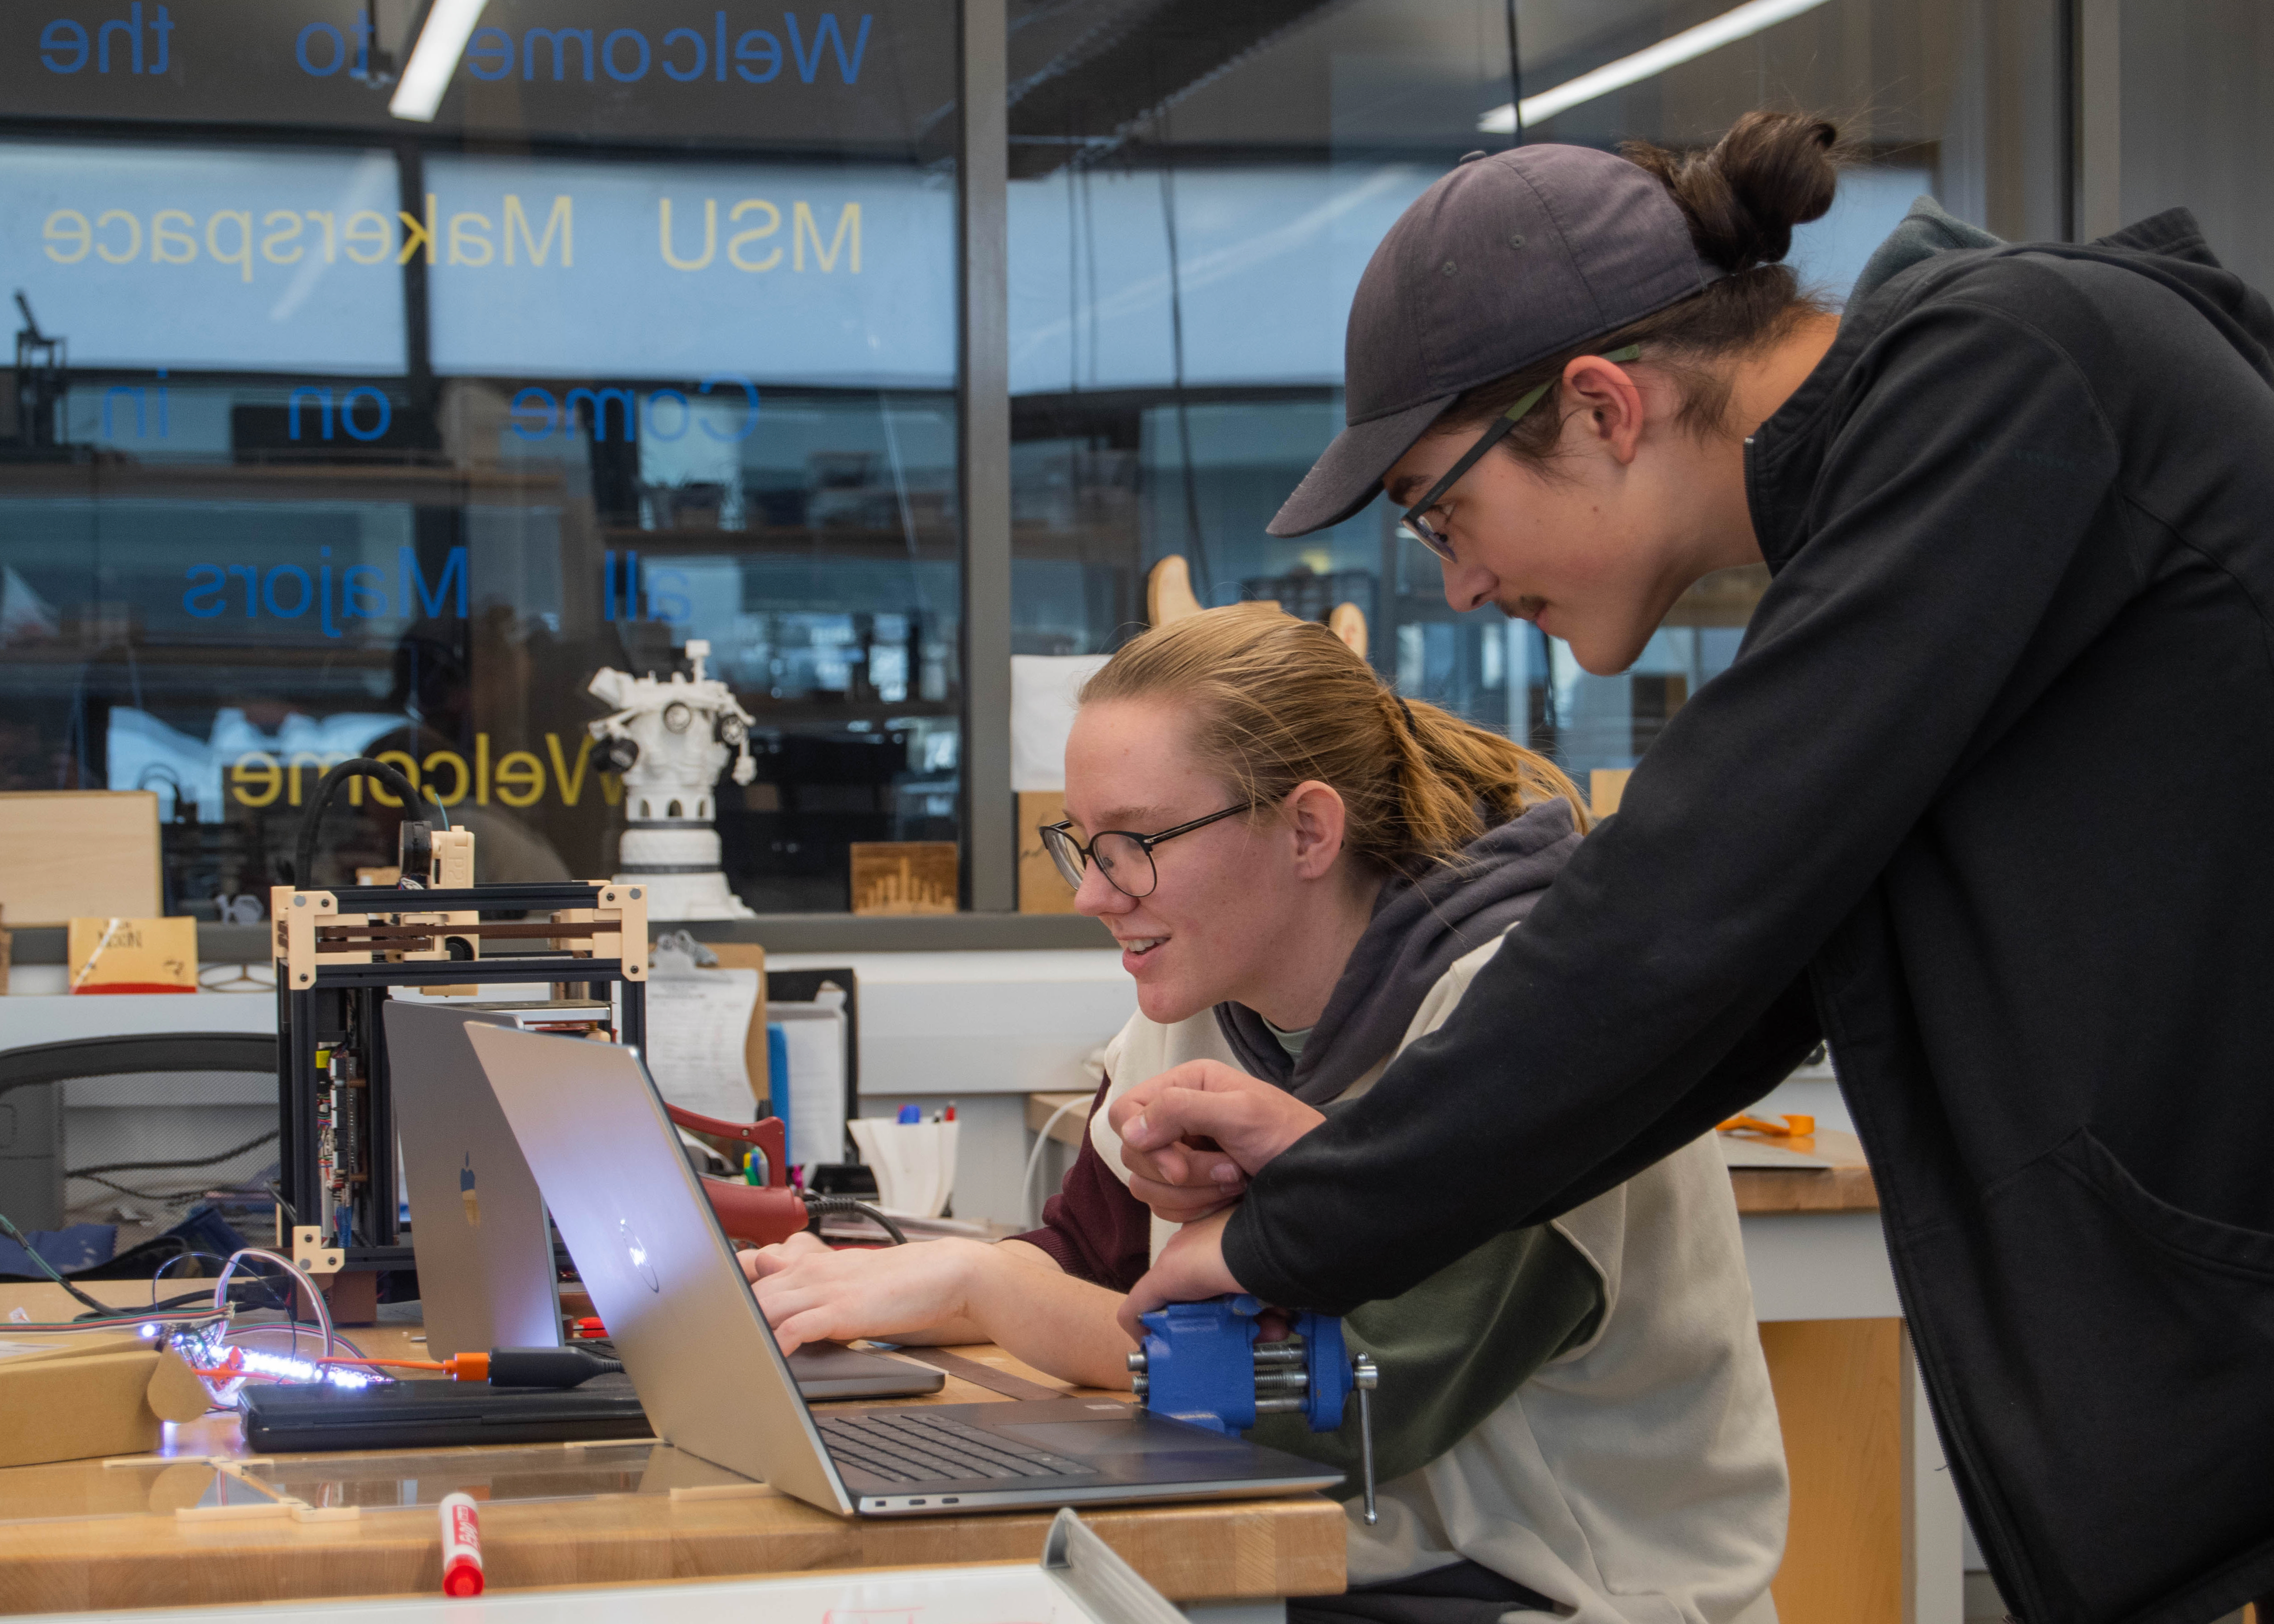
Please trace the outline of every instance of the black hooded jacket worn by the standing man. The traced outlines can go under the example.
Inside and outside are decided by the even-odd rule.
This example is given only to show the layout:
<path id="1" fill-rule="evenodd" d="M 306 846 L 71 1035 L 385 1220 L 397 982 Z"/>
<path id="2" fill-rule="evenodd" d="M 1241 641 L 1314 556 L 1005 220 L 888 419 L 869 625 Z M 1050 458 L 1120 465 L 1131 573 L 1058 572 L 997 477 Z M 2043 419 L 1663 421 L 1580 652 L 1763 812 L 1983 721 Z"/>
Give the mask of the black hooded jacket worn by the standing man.
<path id="1" fill-rule="evenodd" d="M 1392 1296 L 1828 1037 L 1999 1588 L 2194 1624 L 2274 1592 L 2274 309 L 1933 227 L 1746 448 L 1735 664 L 1226 1260 Z"/>

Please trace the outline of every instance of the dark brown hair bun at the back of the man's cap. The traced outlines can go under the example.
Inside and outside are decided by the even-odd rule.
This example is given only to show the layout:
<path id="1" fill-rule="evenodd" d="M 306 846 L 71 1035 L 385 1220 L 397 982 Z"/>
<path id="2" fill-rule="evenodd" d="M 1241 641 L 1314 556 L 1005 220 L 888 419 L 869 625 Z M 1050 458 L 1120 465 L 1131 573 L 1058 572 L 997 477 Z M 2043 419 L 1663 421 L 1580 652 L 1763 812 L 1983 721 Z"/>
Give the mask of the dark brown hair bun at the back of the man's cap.
<path id="1" fill-rule="evenodd" d="M 1628 141 L 1619 152 L 1658 175 L 1699 252 L 1728 273 L 1776 264 L 1792 227 L 1821 218 L 1840 182 L 1840 130 L 1810 114 L 1753 111 L 1706 152 Z"/>

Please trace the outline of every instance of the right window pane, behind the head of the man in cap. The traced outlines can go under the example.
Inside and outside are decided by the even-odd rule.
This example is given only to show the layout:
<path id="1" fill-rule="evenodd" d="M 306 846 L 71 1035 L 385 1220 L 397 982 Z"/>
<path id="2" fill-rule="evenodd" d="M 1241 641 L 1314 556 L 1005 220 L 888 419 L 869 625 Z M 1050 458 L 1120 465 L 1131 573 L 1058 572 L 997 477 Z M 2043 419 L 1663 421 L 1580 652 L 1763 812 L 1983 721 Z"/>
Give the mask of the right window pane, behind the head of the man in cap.
<path id="1" fill-rule="evenodd" d="M 1353 0 L 1228 7 L 1142 48 L 1130 9 L 1012 5 L 1019 653 L 1119 646 L 1146 571 L 1182 555 L 1203 603 L 1355 603 L 1405 694 L 1574 771 L 1630 767 L 1728 666 L 1765 571 L 1701 582 L 1630 673 L 1594 678 L 1530 625 L 1449 610 L 1380 500 L 1264 535 L 1342 428 L 1344 316 L 1389 223 L 1469 150 L 1703 146 L 1783 105 L 1860 143 L 1792 250 L 1835 305 L 1922 191 L 2006 237 L 2060 234 L 2049 0 Z"/>

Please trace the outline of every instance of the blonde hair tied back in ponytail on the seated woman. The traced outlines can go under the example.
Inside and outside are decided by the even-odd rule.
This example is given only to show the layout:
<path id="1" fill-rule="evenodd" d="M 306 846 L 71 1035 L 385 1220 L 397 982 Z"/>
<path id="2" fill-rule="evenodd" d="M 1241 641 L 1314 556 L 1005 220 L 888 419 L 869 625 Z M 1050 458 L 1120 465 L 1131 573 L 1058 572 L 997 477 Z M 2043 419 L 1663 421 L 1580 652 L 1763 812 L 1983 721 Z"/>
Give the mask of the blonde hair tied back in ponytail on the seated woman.
<path id="1" fill-rule="evenodd" d="M 1258 807 L 1305 780 L 1344 803 L 1344 848 L 1419 878 L 1458 862 L 1487 826 L 1546 801 L 1587 810 L 1562 771 L 1437 705 L 1405 701 L 1323 625 L 1264 603 L 1203 610 L 1121 648 L 1082 703 L 1189 705 L 1194 748 Z"/>

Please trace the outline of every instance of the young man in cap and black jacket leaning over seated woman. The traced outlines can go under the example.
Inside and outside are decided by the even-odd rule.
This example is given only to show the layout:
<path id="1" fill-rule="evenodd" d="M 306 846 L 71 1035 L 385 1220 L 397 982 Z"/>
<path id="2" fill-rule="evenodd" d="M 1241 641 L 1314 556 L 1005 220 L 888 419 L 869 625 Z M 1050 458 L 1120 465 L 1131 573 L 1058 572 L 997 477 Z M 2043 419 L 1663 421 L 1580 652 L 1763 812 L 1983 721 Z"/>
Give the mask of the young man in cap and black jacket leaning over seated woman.
<path id="1" fill-rule="evenodd" d="M 2008 248 L 1922 200 L 1835 325 L 1776 264 L 1828 139 L 1478 157 L 1376 252 L 1273 532 L 1387 489 L 1455 607 L 1599 673 L 1774 580 L 1364 1099 L 1114 1108 L 1192 1219 L 1128 1315 L 1392 1296 L 1828 1039 L 2003 1597 L 2197 1624 L 2274 1592 L 2274 309 L 2183 212 Z"/>

